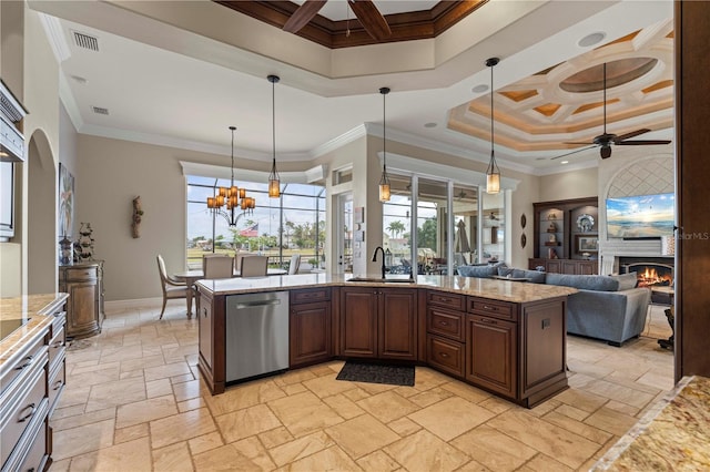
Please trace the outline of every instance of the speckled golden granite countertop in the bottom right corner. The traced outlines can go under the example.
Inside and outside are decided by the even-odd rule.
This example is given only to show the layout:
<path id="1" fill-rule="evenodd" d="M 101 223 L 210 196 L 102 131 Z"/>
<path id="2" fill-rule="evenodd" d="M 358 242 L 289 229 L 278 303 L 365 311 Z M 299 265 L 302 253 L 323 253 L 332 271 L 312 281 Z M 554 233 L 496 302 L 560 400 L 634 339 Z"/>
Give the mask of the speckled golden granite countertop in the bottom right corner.
<path id="1" fill-rule="evenodd" d="M 710 470 L 710 379 L 683 377 L 592 471 Z"/>

